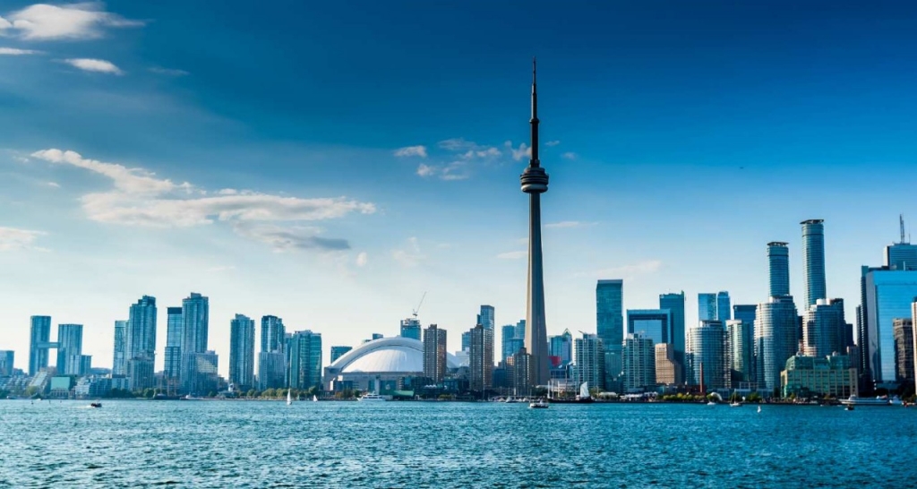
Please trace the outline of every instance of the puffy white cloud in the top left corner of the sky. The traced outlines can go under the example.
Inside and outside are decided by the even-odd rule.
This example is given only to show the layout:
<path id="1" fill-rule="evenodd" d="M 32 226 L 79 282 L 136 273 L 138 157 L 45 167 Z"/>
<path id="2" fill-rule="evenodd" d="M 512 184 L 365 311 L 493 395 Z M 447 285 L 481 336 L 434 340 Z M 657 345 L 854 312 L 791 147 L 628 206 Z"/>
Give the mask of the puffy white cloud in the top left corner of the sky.
<path id="1" fill-rule="evenodd" d="M 0 17 L 0 33 L 13 31 L 30 40 L 97 39 L 104 28 L 142 26 L 143 22 L 128 20 L 101 10 L 101 4 L 83 3 L 61 6 L 36 4 Z"/>

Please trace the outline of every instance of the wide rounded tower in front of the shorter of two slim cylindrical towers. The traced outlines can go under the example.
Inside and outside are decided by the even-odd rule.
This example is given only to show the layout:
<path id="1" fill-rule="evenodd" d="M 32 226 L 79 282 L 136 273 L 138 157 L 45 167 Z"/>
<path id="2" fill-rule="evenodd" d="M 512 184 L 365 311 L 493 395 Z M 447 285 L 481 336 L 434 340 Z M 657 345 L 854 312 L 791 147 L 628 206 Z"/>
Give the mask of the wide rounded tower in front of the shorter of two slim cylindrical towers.
<path id="1" fill-rule="evenodd" d="M 792 295 L 770 297 L 757 305 L 755 319 L 755 372 L 758 388 L 776 392 L 780 370 L 799 350 L 799 316 Z"/>

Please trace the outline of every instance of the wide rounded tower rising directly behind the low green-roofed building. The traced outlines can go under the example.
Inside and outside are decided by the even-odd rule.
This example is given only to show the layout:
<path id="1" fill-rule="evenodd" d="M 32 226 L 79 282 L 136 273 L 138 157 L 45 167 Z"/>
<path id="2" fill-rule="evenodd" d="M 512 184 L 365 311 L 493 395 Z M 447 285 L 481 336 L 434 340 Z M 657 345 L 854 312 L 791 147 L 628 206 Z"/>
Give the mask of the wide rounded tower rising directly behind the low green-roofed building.
<path id="1" fill-rule="evenodd" d="M 846 327 L 844 300 L 818 299 L 802 319 L 802 353 L 818 358 L 835 352 L 845 353 Z"/>

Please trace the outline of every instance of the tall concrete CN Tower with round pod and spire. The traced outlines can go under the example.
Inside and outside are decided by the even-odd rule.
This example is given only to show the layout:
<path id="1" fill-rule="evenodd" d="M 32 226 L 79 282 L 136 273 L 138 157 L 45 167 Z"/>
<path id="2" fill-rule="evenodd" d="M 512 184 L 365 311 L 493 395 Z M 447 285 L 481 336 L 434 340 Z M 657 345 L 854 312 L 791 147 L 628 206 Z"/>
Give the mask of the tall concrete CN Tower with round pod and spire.
<path id="1" fill-rule="evenodd" d="M 541 194 L 547 192 L 547 173 L 538 161 L 538 91 L 536 64 L 532 60 L 532 159 L 519 181 L 528 194 L 528 306 L 525 309 L 525 350 L 532 355 L 534 385 L 547 385 L 547 325 L 545 273 L 541 265 Z"/>

